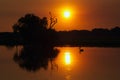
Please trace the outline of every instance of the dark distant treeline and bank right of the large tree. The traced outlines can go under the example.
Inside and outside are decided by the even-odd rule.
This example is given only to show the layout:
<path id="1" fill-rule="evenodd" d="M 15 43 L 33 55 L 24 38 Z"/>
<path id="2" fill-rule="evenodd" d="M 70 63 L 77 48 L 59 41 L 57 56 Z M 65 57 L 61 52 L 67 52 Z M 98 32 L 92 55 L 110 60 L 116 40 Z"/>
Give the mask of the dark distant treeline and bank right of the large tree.
<path id="1" fill-rule="evenodd" d="M 73 46 L 120 46 L 120 27 L 112 29 L 94 28 L 58 32 L 60 44 Z"/>

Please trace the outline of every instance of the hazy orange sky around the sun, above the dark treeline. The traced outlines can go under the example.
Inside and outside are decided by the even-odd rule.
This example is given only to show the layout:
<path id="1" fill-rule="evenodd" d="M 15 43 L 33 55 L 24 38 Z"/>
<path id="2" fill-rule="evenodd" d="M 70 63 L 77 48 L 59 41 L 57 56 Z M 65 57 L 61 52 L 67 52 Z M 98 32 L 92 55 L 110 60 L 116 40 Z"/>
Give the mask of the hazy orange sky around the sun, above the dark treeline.
<path id="1" fill-rule="evenodd" d="M 61 9 L 70 8 L 71 18 L 62 17 Z M 12 25 L 26 13 L 57 18 L 56 30 L 112 28 L 120 26 L 119 0 L 0 0 L 0 31 L 12 31 Z"/>

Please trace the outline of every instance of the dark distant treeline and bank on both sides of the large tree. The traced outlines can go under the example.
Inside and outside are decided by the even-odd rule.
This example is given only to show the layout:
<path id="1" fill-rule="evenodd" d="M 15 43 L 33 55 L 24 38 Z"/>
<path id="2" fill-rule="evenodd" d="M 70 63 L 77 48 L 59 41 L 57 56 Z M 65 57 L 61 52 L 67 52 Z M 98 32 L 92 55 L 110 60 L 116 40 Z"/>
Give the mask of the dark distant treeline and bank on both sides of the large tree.
<path id="1" fill-rule="evenodd" d="M 120 27 L 112 29 L 94 28 L 89 30 L 72 30 L 56 32 L 58 36 L 56 46 L 111 46 L 120 47 Z M 38 36 L 40 39 L 41 37 Z M 0 33 L 1 45 L 23 44 L 19 33 L 3 32 Z"/>

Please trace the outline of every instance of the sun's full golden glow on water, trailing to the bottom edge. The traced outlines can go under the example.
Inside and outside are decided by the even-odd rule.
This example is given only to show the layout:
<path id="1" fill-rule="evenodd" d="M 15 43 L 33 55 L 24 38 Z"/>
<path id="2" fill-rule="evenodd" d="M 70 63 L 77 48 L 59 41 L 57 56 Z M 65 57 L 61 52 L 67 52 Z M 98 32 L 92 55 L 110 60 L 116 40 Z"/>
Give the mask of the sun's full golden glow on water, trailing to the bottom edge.
<path id="1" fill-rule="evenodd" d="M 64 80 L 72 80 L 76 67 L 82 64 L 79 47 L 56 47 L 60 50 L 55 62 L 58 70 L 64 76 Z M 80 68 L 80 66 L 79 66 Z"/>

